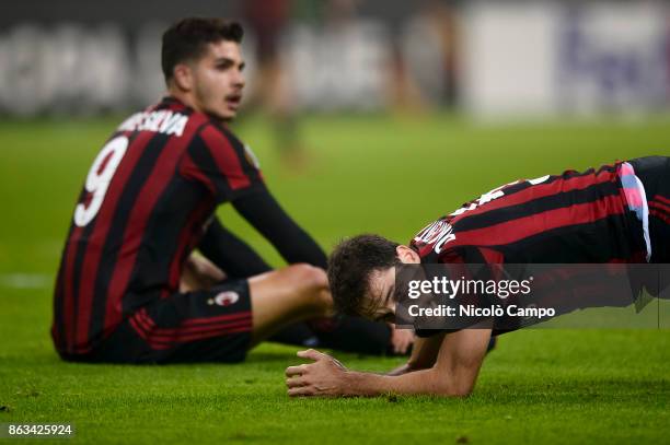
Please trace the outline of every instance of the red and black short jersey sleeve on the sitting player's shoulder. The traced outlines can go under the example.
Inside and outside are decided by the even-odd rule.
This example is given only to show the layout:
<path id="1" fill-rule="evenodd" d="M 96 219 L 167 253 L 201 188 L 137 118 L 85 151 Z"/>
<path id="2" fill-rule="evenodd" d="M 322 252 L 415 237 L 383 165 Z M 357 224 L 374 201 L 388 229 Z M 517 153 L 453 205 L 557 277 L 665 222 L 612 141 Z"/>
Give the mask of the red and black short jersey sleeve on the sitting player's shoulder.
<path id="1" fill-rule="evenodd" d="M 251 150 L 232 132 L 213 124 L 196 133 L 178 168 L 187 179 L 203 184 L 219 203 L 265 190 Z"/>

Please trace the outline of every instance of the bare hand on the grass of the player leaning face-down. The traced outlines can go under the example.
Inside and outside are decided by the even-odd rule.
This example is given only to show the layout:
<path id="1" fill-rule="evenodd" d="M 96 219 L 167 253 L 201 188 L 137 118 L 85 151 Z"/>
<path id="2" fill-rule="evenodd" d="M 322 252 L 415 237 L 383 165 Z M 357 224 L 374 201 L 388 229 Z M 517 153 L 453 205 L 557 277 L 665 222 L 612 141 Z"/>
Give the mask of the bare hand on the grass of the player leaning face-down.
<path id="1" fill-rule="evenodd" d="M 298 352 L 302 359 L 314 363 L 286 368 L 286 386 L 290 397 L 336 397 L 344 396 L 347 368 L 328 354 L 313 349 Z"/>

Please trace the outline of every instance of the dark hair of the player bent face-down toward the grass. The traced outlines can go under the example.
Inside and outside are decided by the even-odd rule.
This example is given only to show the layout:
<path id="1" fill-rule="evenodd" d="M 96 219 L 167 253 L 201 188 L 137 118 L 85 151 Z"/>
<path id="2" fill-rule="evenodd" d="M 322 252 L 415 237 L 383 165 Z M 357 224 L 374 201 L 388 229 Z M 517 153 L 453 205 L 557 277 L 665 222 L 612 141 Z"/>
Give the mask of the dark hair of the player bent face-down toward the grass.
<path id="1" fill-rule="evenodd" d="M 337 312 L 365 315 L 370 276 L 400 264 L 397 243 L 363 234 L 340 242 L 328 259 L 328 283 Z"/>

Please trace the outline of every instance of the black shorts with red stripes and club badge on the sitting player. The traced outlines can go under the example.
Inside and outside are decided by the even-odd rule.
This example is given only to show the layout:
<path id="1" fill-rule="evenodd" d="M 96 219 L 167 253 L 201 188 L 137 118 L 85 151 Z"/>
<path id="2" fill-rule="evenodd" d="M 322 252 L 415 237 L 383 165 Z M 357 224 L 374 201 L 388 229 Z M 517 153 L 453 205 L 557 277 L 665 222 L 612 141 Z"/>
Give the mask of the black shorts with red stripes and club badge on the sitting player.
<path id="1" fill-rule="evenodd" d="M 96 363 L 236 363 L 246 356 L 252 326 L 249 283 L 230 280 L 143 306 L 92 352 L 62 358 Z"/>

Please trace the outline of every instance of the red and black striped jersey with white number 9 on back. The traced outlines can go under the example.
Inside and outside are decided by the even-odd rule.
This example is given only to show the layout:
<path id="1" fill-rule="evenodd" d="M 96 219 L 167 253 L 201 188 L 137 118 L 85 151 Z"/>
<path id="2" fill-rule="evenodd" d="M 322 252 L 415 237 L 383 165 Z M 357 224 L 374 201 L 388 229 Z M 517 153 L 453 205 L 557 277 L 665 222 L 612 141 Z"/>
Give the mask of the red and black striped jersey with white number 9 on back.
<path id="1" fill-rule="evenodd" d="M 265 190 L 231 131 L 172 97 L 124 121 L 85 179 L 55 288 L 56 348 L 85 353 L 178 290 L 216 207 Z"/>

